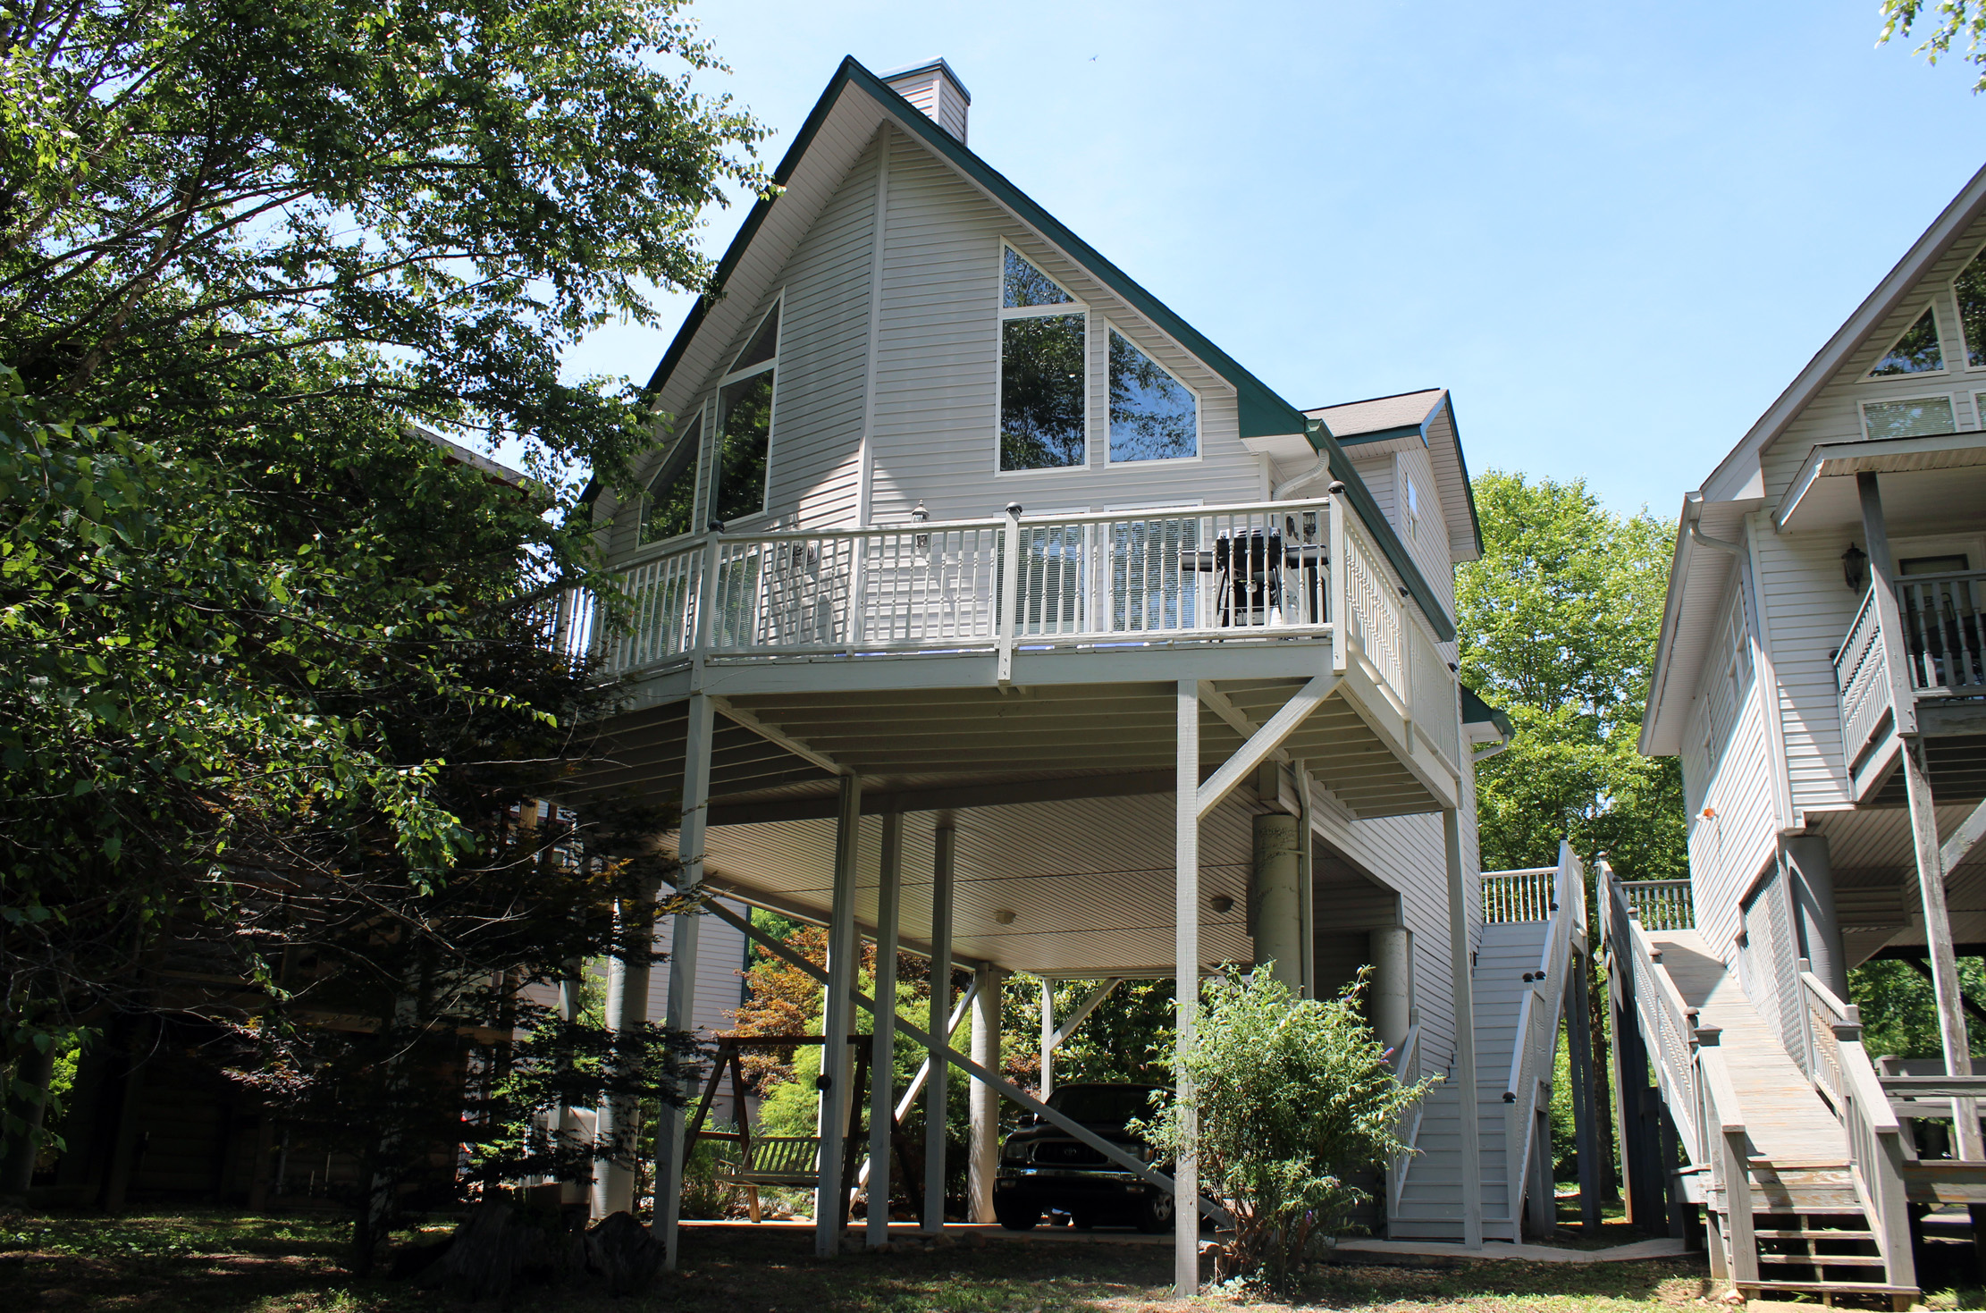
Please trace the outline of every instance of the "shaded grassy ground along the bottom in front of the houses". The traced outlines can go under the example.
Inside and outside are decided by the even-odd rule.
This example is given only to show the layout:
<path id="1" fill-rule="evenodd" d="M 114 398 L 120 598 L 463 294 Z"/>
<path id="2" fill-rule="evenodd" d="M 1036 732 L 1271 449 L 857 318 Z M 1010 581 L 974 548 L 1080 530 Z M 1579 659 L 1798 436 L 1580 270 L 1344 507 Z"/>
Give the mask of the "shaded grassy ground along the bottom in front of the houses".
<path id="1" fill-rule="evenodd" d="M 449 1232 L 437 1222 L 435 1236 Z M 346 1228 L 320 1218 L 173 1214 L 0 1220 L 0 1307 L 165 1313 L 433 1309 L 405 1281 L 357 1281 L 344 1267 Z M 397 1240 L 411 1240 L 397 1238 Z M 812 1257 L 796 1232 L 685 1232 L 681 1273 L 647 1299 L 530 1287 L 512 1307 L 671 1309 L 685 1313 L 1134 1313 L 1168 1303 L 1164 1245 L 995 1240 L 939 1251 Z M 1652 1263 L 1341 1263 L 1313 1273 L 1295 1305 L 1202 1297 L 1207 1309 L 1676 1309 L 1702 1307 L 1708 1271 Z M 1178 1305 L 1172 1305 L 1178 1307 Z"/>

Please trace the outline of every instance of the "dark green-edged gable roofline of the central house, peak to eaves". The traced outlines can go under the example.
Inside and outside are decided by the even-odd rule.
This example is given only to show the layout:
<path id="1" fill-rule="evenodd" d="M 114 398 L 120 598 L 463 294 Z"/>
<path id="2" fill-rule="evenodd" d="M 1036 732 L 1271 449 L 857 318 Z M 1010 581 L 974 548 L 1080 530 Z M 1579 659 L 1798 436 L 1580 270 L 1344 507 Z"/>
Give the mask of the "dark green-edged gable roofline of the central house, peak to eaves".
<path id="1" fill-rule="evenodd" d="M 773 181 L 782 191 L 771 199 L 759 199 L 753 205 L 745 222 L 739 226 L 737 236 L 731 240 L 731 246 L 725 248 L 723 258 L 717 262 L 717 270 L 711 276 L 711 290 L 701 294 L 689 308 L 675 340 L 655 365 L 653 375 L 649 375 L 647 397 L 655 407 L 663 407 L 667 393 L 681 381 L 677 373 L 705 326 L 717 330 L 729 344 L 729 334 L 735 332 L 735 328 L 713 324 L 713 320 L 725 318 L 725 310 L 731 306 L 751 302 L 751 296 L 739 296 L 737 300 L 729 296 L 729 292 L 733 292 L 733 280 L 739 276 L 747 256 L 753 252 L 755 240 L 759 240 L 761 232 L 765 232 L 769 222 L 773 222 L 779 215 L 779 207 L 788 205 L 790 209 L 792 203 L 798 201 L 796 183 L 800 179 L 800 165 L 806 163 L 810 155 L 820 153 L 824 143 L 832 141 L 834 153 L 846 155 L 846 159 L 840 161 L 840 167 L 832 169 L 834 177 L 828 179 L 822 189 L 822 193 L 832 191 L 848 163 L 852 163 L 854 153 L 868 141 L 868 133 L 862 131 L 844 131 L 840 135 L 830 131 L 836 111 L 850 103 L 852 97 L 868 101 L 874 117 L 882 119 L 888 115 L 890 123 L 951 163 L 973 187 L 1019 217 L 1021 222 L 1033 226 L 1035 232 L 1039 232 L 1047 242 L 1057 246 L 1064 256 L 1082 266 L 1092 278 L 1102 282 L 1114 294 L 1124 298 L 1124 302 L 1138 310 L 1138 314 L 1146 316 L 1156 328 L 1229 383 L 1235 389 L 1235 409 L 1241 437 L 1303 433 L 1315 451 L 1331 459 L 1331 471 L 1337 479 L 1345 481 L 1352 509 L 1358 512 L 1358 518 L 1386 554 L 1386 560 L 1392 562 L 1394 570 L 1406 582 L 1414 602 L 1428 618 L 1428 624 L 1434 626 L 1436 636 L 1444 642 L 1454 638 L 1454 622 L 1448 618 L 1434 590 L 1428 586 L 1428 580 L 1420 574 L 1414 558 L 1406 552 L 1406 546 L 1392 530 L 1392 522 L 1380 514 L 1378 503 L 1372 501 L 1372 493 L 1364 487 L 1364 481 L 1358 479 L 1358 471 L 1345 455 L 1345 449 L 1333 439 L 1327 425 L 1307 417 L 1301 409 L 1285 401 L 1227 352 L 1182 320 L 1170 306 L 1152 296 L 1152 292 L 1140 286 L 1130 274 L 1120 270 L 1094 246 L 1063 226 L 1055 215 L 1045 211 L 1005 175 L 969 151 L 965 143 L 957 141 L 951 133 L 943 131 L 937 123 L 925 117 L 916 105 L 882 81 L 882 77 L 862 68 L 854 56 L 842 60 L 834 77 L 828 79 L 828 87 L 820 93 L 820 99 L 814 101 L 812 111 L 794 135 L 786 155 L 773 171 Z M 808 197 L 802 205 L 806 203 L 818 209 L 818 205 L 824 203 L 824 195 L 818 199 Z M 806 219 L 810 220 L 812 215 Z M 743 288 L 737 290 L 743 292 Z M 749 304 L 743 310 L 731 310 L 731 318 L 747 312 Z M 697 383 L 701 383 L 701 369 L 695 371 L 695 377 L 691 379 L 691 385 Z M 588 497 L 590 495 L 592 489 L 588 489 Z"/>

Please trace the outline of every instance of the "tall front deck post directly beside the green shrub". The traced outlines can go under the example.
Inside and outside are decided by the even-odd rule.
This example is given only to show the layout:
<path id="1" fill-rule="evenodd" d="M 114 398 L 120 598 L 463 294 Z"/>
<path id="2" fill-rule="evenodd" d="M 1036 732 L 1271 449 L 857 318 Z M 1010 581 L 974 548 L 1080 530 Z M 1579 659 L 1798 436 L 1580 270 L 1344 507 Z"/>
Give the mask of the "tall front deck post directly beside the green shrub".
<path id="1" fill-rule="evenodd" d="M 1337 518 L 1333 516 L 1333 524 Z M 1331 562 L 1333 574 L 1337 560 Z M 1172 989 L 1180 1053 L 1194 1043 L 1200 1021 L 1200 681 L 1180 679 L 1178 753 L 1174 761 L 1174 946 Z M 1200 1293 L 1200 1162 L 1194 1140 L 1200 1134 L 1194 1116 L 1194 1085 L 1186 1065 L 1174 1073 L 1174 1094 L 1180 1100 L 1186 1126 L 1186 1152 L 1172 1172 L 1172 1279 L 1180 1299 Z"/>

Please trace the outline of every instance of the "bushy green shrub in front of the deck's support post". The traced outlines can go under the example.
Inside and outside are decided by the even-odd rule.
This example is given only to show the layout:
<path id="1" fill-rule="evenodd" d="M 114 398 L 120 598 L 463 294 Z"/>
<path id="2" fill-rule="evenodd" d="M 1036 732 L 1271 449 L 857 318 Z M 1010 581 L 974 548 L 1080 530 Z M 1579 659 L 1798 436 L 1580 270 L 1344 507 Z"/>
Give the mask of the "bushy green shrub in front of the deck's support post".
<path id="1" fill-rule="evenodd" d="M 1394 1081 L 1356 1007 L 1364 975 L 1335 999 L 1291 997 L 1269 971 L 1206 985 L 1200 1027 L 1168 1055 L 1192 1087 L 1190 1132 L 1172 1096 L 1144 1126 L 1166 1154 L 1194 1148 L 1200 1182 L 1235 1218 L 1223 1269 L 1285 1287 L 1313 1234 L 1335 1234 L 1366 1200 L 1354 1182 L 1406 1146 L 1400 1114 L 1434 1085 Z"/>

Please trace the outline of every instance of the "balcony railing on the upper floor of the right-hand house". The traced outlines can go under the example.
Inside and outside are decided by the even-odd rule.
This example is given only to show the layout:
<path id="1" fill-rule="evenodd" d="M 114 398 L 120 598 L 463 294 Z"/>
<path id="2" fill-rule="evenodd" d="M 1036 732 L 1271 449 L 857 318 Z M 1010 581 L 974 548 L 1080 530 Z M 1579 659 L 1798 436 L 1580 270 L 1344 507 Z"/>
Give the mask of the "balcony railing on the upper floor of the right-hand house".
<path id="1" fill-rule="evenodd" d="M 1841 747 L 1849 771 L 1861 767 L 1869 747 L 1895 723 L 1895 697 L 1986 695 L 1986 616 L 1980 588 L 1986 570 L 1911 574 L 1897 580 L 1901 634 L 1883 636 L 1875 588 L 1863 596 L 1847 638 L 1835 652 L 1835 689 L 1841 699 Z M 1901 656 L 1903 677 L 1891 671 Z"/>

